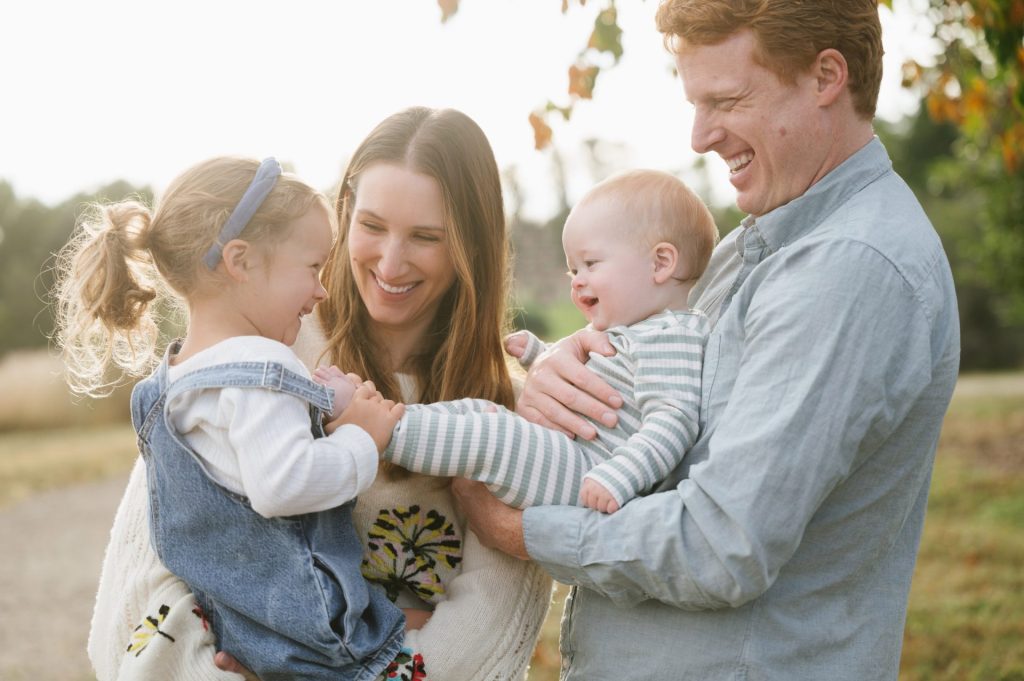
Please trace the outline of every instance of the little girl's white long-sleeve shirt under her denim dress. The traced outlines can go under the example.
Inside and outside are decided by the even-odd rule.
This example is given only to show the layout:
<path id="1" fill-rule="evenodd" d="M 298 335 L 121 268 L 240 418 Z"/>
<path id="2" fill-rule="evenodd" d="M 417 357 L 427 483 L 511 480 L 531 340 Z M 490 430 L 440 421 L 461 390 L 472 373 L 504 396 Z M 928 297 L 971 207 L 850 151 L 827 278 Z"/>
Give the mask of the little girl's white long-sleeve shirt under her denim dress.
<path id="1" fill-rule="evenodd" d="M 238 336 L 170 367 L 168 380 L 232 361 L 275 361 L 309 377 L 288 346 L 260 336 Z M 314 439 L 307 402 L 288 393 L 204 389 L 175 397 L 168 414 L 210 475 L 248 497 L 264 517 L 340 506 L 369 488 L 377 475 L 377 445 L 367 431 L 344 425 Z"/>

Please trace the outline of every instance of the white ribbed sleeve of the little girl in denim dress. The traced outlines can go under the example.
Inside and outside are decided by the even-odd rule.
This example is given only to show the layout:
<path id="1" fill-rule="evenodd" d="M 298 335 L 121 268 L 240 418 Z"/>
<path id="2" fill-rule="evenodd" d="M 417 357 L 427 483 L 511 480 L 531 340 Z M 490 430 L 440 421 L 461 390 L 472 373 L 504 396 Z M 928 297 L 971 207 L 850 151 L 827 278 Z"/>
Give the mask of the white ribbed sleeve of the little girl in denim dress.
<path id="1" fill-rule="evenodd" d="M 341 506 L 377 475 L 373 438 L 346 424 L 313 438 L 306 402 L 259 388 L 230 388 L 220 397 L 228 440 L 253 509 L 264 517 Z"/>

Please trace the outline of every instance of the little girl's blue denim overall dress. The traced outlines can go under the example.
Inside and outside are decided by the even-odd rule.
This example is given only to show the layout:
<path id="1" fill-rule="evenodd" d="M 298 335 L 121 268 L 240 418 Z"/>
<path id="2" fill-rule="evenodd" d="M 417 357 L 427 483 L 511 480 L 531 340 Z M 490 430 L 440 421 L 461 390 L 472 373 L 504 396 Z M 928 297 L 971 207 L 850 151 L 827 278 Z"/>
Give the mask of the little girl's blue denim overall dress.
<path id="1" fill-rule="evenodd" d="M 145 461 L 157 554 L 196 595 L 220 649 L 262 681 L 377 677 L 398 653 L 404 619 L 362 579 L 352 506 L 264 518 L 213 480 L 174 431 L 167 405 L 204 388 L 264 388 L 310 406 L 314 436 L 330 412 L 324 386 L 278 363 L 207 367 L 168 386 L 168 348 L 132 391 L 132 423 Z"/>

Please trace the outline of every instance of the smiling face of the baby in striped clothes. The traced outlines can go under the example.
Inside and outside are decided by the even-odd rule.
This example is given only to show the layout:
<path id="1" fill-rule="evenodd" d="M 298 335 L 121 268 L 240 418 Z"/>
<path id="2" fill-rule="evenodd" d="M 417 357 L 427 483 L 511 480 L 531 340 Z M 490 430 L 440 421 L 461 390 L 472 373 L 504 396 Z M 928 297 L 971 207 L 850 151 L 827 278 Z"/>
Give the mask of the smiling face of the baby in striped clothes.
<path id="1" fill-rule="evenodd" d="M 572 302 L 597 331 L 658 311 L 653 254 L 628 219 L 610 201 L 597 199 L 573 208 L 562 229 Z"/>

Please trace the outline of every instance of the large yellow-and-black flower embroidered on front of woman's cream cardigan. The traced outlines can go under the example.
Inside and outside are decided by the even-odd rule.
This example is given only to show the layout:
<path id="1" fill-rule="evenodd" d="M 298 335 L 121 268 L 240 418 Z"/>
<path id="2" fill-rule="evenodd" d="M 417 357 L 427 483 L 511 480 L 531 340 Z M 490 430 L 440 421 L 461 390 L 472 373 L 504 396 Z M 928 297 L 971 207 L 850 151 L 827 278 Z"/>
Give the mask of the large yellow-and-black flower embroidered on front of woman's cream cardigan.
<path id="1" fill-rule="evenodd" d="M 362 576 L 395 600 L 409 588 L 429 603 L 444 596 L 441 571 L 462 561 L 462 540 L 443 515 L 418 505 L 381 509 L 370 528 Z"/>

